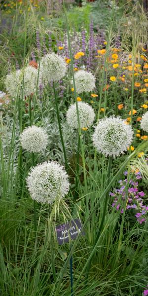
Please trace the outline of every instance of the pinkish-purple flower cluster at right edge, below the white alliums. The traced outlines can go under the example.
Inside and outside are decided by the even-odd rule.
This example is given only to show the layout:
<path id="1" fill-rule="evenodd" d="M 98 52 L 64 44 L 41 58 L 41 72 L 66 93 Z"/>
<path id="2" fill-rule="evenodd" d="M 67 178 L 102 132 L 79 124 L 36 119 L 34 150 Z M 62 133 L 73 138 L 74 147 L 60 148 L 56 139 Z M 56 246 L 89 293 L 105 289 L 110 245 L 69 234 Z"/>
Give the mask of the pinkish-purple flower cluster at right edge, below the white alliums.
<path id="1" fill-rule="evenodd" d="M 124 173 L 127 175 L 127 172 Z M 133 209 L 136 214 L 135 217 L 137 221 L 142 224 L 146 222 L 148 217 L 148 206 L 143 204 L 143 197 L 145 196 L 145 192 L 138 190 L 138 181 L 142 179 L 142 175 L 140 172 L 136 172 L 134 176 L 134 180 L 131 179 L 129 181 L 129 188 L 128 188 L 128 201 L 126 209 Z M 123 214 L 124 202 L 126 198 L 126 186 L 127 186 L 127 179 L 120 180 L 119 182 L 120 187 L 114 189 L 114 192 L 110 192 L 110 195 L 114 197 L 112 207 L 116 207 L 116 210 Z"/>

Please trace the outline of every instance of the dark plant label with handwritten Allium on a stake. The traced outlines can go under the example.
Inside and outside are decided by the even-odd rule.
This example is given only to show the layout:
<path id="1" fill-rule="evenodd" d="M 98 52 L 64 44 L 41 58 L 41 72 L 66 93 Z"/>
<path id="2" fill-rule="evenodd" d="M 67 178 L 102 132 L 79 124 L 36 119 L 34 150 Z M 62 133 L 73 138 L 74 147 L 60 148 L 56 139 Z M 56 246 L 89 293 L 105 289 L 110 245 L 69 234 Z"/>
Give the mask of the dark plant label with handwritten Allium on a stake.
<path id="1" fill-rule="evenodd" d="M 80 232 L 81 235 L 85 235 L 82 231 L 82 224 L 79 219 L 57 225 L 55 228 L 59 245 L 69 243 L 71 240 L 76 239 Z"/>

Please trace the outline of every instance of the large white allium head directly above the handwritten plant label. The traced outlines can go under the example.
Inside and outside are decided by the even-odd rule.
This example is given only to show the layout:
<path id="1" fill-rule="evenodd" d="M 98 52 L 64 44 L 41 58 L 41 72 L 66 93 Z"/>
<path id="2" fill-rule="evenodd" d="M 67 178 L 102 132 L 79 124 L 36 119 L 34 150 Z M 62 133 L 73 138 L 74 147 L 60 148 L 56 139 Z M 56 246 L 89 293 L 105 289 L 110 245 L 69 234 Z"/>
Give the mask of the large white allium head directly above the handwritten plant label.
<path id="1" fill-rule="evenodd" d="M 41 203 L 52 204 L 56 198 L 64 197 L 70 188 L 64 167 L 53 160 L 33 167 L 26 180 L 32 199 Z"/>

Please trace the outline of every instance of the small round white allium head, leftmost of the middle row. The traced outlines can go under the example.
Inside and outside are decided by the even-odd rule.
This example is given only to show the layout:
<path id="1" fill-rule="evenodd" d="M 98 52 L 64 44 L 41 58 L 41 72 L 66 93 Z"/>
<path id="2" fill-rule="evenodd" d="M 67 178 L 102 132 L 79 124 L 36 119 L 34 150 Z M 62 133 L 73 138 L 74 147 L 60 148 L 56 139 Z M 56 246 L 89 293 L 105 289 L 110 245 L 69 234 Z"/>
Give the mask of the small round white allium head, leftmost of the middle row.
<path id="1" fill-rule="evenodd" d="M 46 148 L 48 136 L 43 128 L 32 125 L 24 129 L 20 135 L 20 142 L 28 152 L 40 152 Z"/>

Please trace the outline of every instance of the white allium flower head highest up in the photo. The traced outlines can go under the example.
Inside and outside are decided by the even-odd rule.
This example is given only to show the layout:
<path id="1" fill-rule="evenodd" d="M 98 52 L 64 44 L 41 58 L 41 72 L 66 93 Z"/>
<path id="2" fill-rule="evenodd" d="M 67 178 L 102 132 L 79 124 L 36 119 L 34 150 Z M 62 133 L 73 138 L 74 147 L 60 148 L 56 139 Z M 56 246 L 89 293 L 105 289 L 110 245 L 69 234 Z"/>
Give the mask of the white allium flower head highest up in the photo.
<path id="1" fill-rule="evenodd" d="M 43 84 L 49 81 L 59 81 L 67 71 L 64 58 L 55 53 L 48 53 L 40 60 L 39 80 Z"/>

